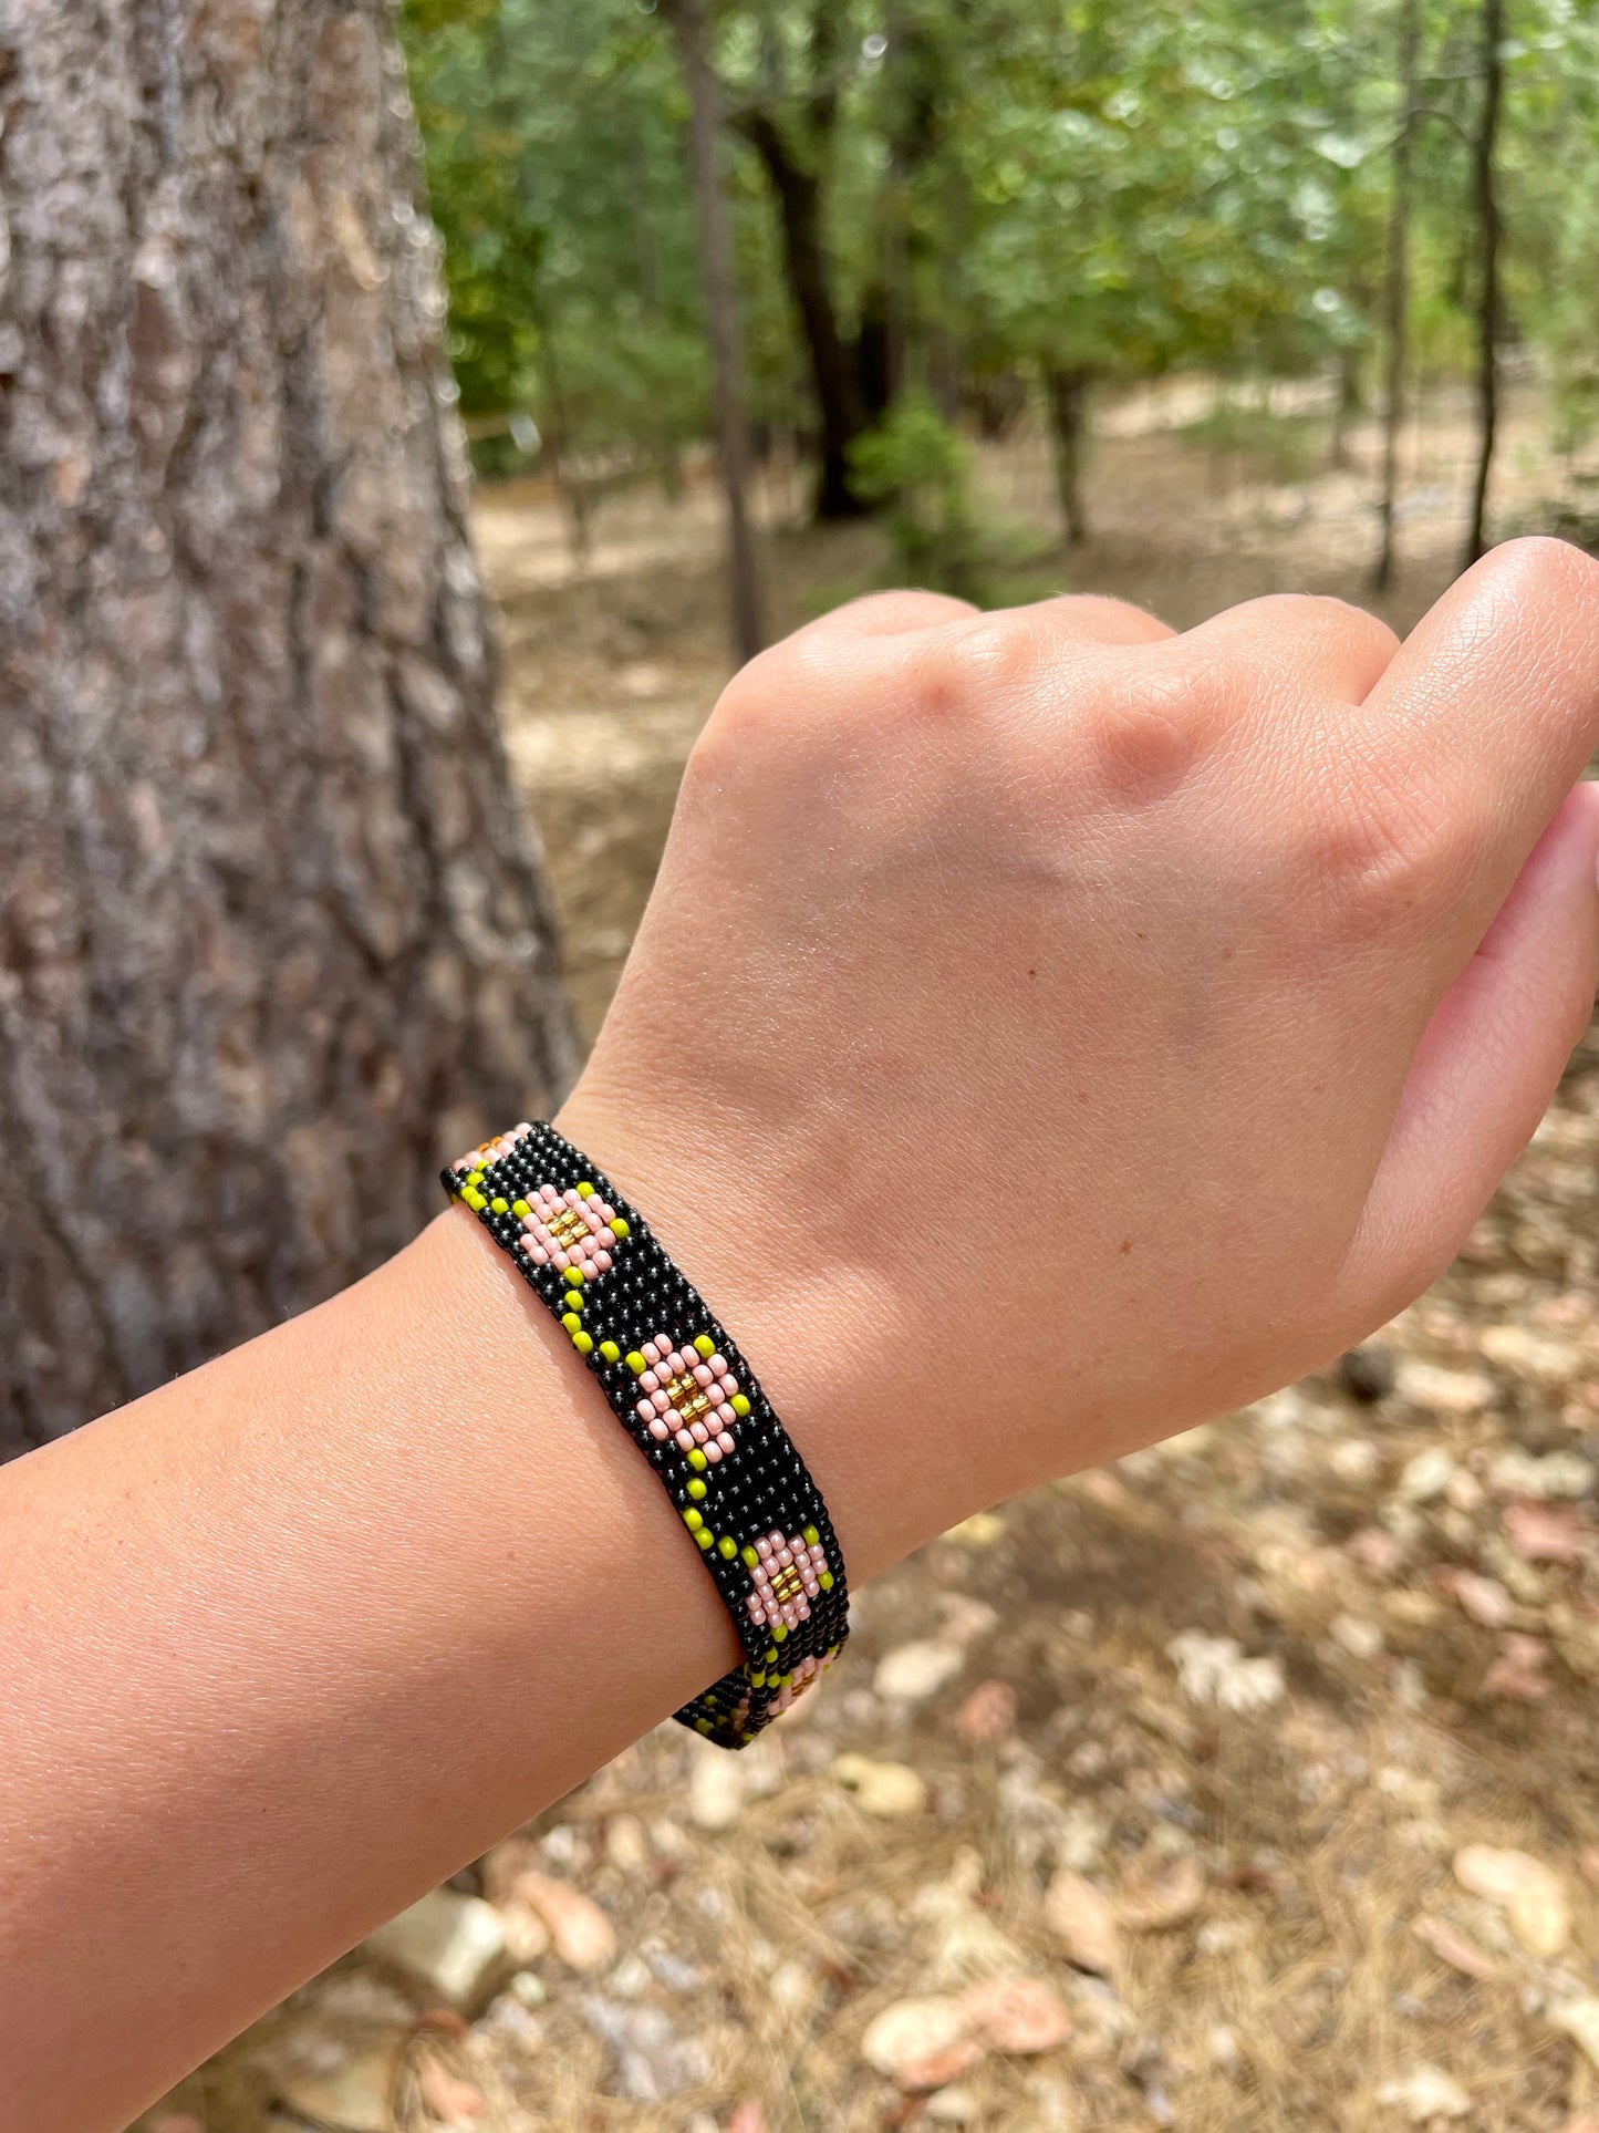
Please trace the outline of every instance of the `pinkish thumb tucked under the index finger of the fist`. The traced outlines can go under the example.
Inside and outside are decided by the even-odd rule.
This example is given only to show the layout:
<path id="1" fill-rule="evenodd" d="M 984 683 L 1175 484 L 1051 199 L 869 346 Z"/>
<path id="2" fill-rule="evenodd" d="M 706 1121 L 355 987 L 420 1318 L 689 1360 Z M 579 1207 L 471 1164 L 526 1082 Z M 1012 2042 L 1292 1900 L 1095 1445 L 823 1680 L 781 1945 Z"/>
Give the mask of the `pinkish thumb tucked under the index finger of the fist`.
<path id="1" fill-rule="evenodd" d="M 1345 1276 L 1399 1310 L 1448 1267 L 1531 1139 L 1599 979 L 1599 785 L 1537 840 L 1439 1003 L 1399 1098 Z"/>

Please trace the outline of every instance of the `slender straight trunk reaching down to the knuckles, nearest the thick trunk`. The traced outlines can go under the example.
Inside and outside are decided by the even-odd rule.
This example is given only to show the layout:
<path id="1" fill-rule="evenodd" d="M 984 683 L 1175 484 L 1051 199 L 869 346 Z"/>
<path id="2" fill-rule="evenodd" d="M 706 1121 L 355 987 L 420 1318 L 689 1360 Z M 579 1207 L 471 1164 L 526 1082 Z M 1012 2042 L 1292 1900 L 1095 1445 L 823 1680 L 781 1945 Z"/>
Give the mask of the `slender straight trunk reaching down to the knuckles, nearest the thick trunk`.
<path id="1" fill-rule="evenodd" d="M 682 75 L 689 87 L 689 149 L 699 213 L 699 273 L 706 286 L 706 328 L 716 382 L 716 454 L 727 497 L 727 567 L 733 593 L 733 644 L 740 659 L 753 659 L 765 644 L 761 629 L 761 578 L 750 531 L 750 420 L 744 395 L 744 328 L 733 279 L 733 235 L 723 196 L 721 90 L 706 51 L 706 0 L 667 0 L 665 13 L 678 32 Z"/>

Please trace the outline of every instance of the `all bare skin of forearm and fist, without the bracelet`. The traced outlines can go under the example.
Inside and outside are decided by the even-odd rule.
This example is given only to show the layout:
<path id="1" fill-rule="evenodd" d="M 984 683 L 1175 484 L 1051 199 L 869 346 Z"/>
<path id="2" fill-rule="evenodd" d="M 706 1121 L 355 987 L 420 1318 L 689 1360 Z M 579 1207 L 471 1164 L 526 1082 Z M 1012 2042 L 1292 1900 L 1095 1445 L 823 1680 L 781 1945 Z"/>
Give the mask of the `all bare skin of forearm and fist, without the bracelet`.
<path id="1" fill-rule="evenodd" d="M 561 1124 L 738 1333 L 857 1583 L 1448 1263 L 1593 1005 L 1595 747 L 1599 570 L 1552 542 L 1405 646 L 1335 602 L 1173 636 L 906 593 L 733 680 Z M 30 2133 L 126 2124 L 736 1655 L 461 1212 L 4 1470 L 0 1561 Z"/>

